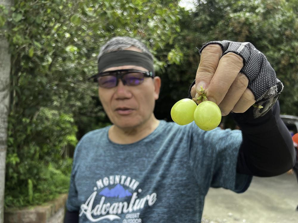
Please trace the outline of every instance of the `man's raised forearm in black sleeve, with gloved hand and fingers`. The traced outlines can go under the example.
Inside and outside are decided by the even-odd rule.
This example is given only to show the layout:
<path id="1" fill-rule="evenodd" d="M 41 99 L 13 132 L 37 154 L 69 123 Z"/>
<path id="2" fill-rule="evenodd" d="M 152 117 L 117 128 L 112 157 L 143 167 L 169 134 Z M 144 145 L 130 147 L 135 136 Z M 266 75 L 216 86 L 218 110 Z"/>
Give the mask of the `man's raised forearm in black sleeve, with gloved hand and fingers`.
<path id="1" fill-rule="evenodd" d="M 251 43 L 213 41 L 204 45 L 192 98 L 203 86 L 209 100 L 222 115 L 233 112 L 243 132 L 237 171 L 273 176 L 294 165 L 294 147 L 288 129 L 279 117 L 277 101 L 283 84 L 266 57 Z M 252 107 L 253 104 L 260 106 Z M 263 106 L 263 108 L 261 107 Z"/>

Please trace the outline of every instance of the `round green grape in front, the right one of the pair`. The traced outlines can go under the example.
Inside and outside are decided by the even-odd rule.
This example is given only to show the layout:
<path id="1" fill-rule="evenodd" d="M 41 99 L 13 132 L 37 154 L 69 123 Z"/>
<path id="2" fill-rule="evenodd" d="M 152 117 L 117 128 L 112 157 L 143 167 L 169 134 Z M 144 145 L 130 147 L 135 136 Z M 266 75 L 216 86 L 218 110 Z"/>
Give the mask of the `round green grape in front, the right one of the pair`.
<path id="1" fill-rule="evenodd" d="M 195 109 L 193 117 L 200 129 L 209 131 L 221 123 L 221 110 L 214 102 L 203 101 Z"/>

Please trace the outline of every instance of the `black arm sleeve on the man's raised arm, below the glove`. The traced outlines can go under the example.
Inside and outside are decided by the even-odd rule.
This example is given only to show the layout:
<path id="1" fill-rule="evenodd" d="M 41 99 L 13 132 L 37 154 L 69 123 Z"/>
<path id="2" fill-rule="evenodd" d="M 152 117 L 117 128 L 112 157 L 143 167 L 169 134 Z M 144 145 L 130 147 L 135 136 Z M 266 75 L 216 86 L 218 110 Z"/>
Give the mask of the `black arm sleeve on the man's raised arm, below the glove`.
<path id="1" fill-rule="evenodd" d="M 249 110 L 245 113 L 251 113 Z M 254 119 L 245 113 L 232 114 L 243 135 L 237 172 L 271 177 L 290 170 L 295 164 L 294 145 L 279 116 L 278 101 L 264 116 Z"/>

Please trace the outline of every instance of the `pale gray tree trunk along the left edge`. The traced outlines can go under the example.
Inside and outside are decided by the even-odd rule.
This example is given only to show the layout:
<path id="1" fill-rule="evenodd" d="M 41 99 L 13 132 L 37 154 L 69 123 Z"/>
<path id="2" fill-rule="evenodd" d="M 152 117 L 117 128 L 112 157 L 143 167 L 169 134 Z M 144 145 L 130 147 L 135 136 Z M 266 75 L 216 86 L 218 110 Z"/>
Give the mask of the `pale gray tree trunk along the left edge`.
<path id="1" fill-rule="evenodd" d="M 12 0 L 0 0 L 1 5 L 13 5 Z M 7 150 L 7 118 L 10 92 L 10 55 L 8 41 L 0 37 L 0 223 L 4 222 L 5 161 Z"/>

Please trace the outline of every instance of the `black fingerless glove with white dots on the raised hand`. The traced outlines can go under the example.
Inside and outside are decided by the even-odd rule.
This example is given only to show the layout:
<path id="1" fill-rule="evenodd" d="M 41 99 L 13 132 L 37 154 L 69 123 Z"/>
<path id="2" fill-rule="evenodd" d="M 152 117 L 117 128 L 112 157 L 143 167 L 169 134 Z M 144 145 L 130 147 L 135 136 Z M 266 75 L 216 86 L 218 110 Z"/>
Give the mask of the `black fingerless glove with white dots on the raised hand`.
<path id="1" fill-rule="evenodd" d="M 253 117 L 263 116 L 268 112 L 283 90 L 283 84 L 276 78 L 276 73 L 266 59 L 266 56 L 258 51 L 251 43 L 238 43 L 232 41 L 212 41 L 205 43 L 198 50 L 201 54 L 205 46 L 219 44 L 223 55 L 233 52 L 243 58 L 244 73 L 249 79 L 248 88 L 254 94 L 257 107 L 253 109 Z M 260 107 L 263 108 L 260 108 Z"/>

